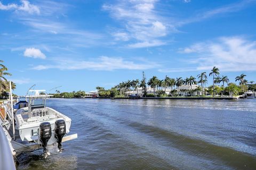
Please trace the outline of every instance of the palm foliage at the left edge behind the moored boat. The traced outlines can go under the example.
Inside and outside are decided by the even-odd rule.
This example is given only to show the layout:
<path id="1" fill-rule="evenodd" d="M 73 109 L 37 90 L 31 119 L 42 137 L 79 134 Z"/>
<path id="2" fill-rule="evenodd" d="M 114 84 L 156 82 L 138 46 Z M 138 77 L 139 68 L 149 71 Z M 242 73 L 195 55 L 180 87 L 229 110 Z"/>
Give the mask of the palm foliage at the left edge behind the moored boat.
<path id="1" fill-rule="evenodd" d="M 12 74 L 7 72 L 7 67 L 2 64 L 4 61 L 0 60 L 0 98 L 5 99 L 9 97 L 9 81 L 6 77 L 10 77 Z M 16 88 L 16 84 L 11 82 L 11 87 L 14 90 Z M 13 94 L 13 96 L 15 96 Z"/>

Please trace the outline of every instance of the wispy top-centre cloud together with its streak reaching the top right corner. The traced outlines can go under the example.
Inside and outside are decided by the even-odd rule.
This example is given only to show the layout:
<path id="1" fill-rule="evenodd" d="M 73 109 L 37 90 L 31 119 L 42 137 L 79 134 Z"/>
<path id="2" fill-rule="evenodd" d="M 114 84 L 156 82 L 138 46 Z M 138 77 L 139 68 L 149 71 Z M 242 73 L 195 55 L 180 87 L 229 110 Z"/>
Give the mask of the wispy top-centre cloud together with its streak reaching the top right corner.
<path id="1" fill-rule="evenodd" d="M 183 0 L 183 2 L 189 3 L 190 0 Z M 255 1 L 244 0 L 220 6 L 213 10 L 201 11 L 187 19 L 180 18 L 172 12 L 169 16 L 163 15 L 156 9 L 157 0 L 117 1 L 117 3 L 105 4 L 102 8 L 121 25 L 119 30 L 117 28 L 111 33 L 116 41 L 126 41 L 126 46 L 130 48 L 143 48 L 166 45 L 164 38 L 170 33 L 180 32 L 178 28 L 183 25 L 237 12 L 253 2 Z"/>

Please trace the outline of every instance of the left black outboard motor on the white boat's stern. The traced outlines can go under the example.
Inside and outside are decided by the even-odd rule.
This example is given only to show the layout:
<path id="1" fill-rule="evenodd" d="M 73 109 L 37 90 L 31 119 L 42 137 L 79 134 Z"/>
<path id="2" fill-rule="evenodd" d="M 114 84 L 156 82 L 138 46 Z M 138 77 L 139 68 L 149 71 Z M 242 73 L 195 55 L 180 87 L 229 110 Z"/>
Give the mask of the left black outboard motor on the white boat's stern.
<path id="1" fill-rule="evenodd" d="M 40 141 L 42 142 L 42 147 L 44 148 L 44 154 L 49 155 L 48 149 L 47 149 L 47 142 L 52 136 L 52 128 L 51 123 L 49 122 L 42 122 L 39 126 L 39 132 L 40 132 Z"/>

